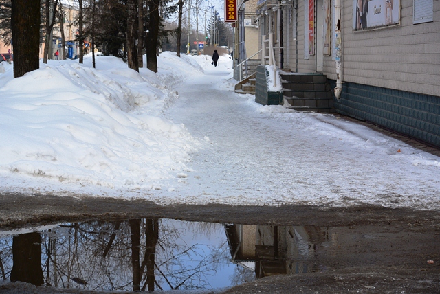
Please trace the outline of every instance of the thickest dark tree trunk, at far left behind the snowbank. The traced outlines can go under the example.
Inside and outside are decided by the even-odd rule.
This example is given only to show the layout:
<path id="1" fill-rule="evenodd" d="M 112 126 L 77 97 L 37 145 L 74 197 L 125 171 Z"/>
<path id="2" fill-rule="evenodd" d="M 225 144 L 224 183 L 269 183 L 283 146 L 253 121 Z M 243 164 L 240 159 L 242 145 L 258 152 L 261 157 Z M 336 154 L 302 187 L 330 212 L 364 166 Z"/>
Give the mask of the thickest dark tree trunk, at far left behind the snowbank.
<path id="1" fill-rule="evenodd" d="M 40 1 L 12 0 L 14 78 L 39 69 Z"/>

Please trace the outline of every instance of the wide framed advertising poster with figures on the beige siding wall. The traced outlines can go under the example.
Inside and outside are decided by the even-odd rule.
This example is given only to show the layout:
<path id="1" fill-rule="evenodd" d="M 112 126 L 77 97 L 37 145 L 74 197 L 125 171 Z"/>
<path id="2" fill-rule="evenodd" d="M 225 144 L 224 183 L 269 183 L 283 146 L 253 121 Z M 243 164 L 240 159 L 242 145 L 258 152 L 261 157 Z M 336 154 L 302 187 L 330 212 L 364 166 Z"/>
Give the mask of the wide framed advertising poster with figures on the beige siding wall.
<path id="1" fill-rule="evenodd" d="M 386 27 L 400 22 L 400 0 L 353 0 L 353 29 Z"/>

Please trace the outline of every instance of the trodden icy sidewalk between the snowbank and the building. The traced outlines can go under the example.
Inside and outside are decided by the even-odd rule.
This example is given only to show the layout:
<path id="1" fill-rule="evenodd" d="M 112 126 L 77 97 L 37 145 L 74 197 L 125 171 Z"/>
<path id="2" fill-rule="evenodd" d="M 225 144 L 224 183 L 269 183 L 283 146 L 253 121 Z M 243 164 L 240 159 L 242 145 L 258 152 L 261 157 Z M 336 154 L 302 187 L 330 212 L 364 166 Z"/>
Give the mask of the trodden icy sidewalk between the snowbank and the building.
<path id="1" fill-rule="evenodd" d="M 179 185 L 153 199 L 440 207 L 439 157 L 333 115 L 261 106 L 232 89 L 214 70 L 177 89 L 168 115 L 209 144 Z"/>

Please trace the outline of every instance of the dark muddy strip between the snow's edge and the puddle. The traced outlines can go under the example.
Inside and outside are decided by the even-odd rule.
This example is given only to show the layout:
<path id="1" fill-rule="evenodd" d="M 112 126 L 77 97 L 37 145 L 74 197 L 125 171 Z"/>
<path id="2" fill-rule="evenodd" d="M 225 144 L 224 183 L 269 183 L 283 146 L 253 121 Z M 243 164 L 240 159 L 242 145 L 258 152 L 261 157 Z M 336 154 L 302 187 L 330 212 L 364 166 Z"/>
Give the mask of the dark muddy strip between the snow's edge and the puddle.
<path id="1" fill-rule="evenodd" d="M 167 205 L 142 199 L 0 194 L 0 229 L 45 225 L 61 221 L 173 218 L 212 223 L 252 225 L 312 225 L 338 227 L 355 224 L 419 226 L 439 229 L 440 212 L 390 209 L 373 205 L 319 207 L 310 205 L 232 206 Z"/>

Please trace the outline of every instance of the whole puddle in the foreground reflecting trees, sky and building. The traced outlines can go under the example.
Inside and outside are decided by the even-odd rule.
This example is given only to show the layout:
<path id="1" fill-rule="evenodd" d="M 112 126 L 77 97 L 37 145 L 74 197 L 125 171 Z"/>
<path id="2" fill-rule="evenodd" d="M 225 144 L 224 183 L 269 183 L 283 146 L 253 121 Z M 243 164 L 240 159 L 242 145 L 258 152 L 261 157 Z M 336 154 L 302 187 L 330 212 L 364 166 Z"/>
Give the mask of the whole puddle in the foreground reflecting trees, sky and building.
<path id="1" fill-rule="evenodd" d="M 219 289 L 345 267 L 423 270 L 440 236 L 393 227 L 63 223 L 0 233 L 4 280 L 96 291 Z"/>

